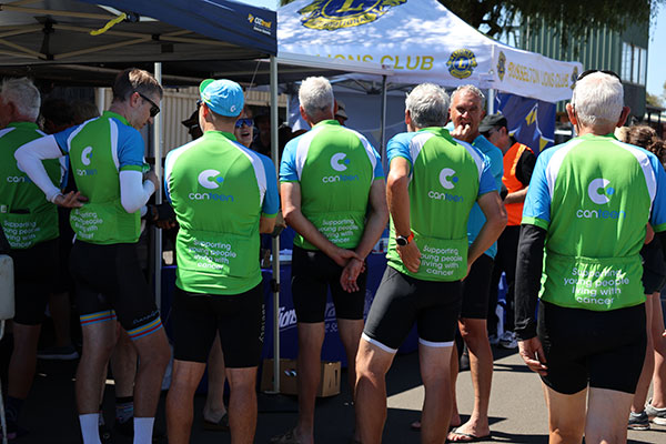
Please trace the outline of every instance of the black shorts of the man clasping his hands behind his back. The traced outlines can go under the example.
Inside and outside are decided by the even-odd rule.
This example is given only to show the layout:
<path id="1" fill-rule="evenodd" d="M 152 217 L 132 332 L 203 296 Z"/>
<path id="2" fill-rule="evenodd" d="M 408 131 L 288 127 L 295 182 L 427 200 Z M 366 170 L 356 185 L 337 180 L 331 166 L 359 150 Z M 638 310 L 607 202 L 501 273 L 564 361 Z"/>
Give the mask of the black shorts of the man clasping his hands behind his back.
<path id="1" fill-rule="evenodd" d="M 327 290 L 335 305 L 337 319 L 357 321 L 363 319 L 365 307 L 365 271 L 359 275 L 359 291 L 347 293 L 340 285 L 342 266 L 321 251 L 294 246 L 292 255 L 292 299 L 296 319 L 303 323 L 324 322 Z"/>

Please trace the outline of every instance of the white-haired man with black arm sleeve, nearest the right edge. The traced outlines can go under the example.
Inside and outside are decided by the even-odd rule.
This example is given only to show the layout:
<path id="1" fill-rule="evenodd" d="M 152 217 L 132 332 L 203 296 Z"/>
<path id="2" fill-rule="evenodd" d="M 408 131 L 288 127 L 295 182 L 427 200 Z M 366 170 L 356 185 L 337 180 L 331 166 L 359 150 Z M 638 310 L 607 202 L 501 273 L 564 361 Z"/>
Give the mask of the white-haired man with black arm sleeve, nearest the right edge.
<path id="1" fill-rule="evenodd" d="M 582 73 L 566 110 L 578 137 L 538 157 L 527 190 L 516 334 L 549 442 L 624 443 L 646 346 L 638 253 L 648 223 L 666 230 L 666 174 L 613 135 L 629 112 L 617 74 Z"/>

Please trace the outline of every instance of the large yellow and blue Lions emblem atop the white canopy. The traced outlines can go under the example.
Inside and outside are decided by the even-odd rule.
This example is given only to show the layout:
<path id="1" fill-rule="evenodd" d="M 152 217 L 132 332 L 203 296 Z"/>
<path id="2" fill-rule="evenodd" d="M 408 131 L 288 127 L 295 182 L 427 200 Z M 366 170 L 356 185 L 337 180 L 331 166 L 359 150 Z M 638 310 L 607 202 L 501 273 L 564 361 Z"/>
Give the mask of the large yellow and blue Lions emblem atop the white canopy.
<path id="1" fill-rule="evenodd" d="M 371 23 L 407 0 L 315 0 L 299 10 L 306 28 L 334 31 Z"/>

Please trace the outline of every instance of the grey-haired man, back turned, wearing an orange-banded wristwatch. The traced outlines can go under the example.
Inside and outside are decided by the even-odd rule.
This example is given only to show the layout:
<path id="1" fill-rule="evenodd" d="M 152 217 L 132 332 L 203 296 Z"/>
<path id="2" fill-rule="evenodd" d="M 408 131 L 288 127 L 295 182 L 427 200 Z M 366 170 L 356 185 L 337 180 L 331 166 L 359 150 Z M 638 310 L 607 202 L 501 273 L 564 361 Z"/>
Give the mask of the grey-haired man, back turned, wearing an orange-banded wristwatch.
<path id="1" fill-rule="evenodd" d="M 373 301 L 356 359 L 361 442 L 379 444 L 386 418 L 385 374 L 416 323 L 425 385 L 422 443 L 443 443 L 452 413 L 450 362 L 462 304 L 461 280 L 495 242 L 506 214 L 487 160 L 447 130 L 448 95 L 431 83 L 405 100 L 408 132 L 389 142 L 389 266 Z M 485 214 L 474 242 L 467 219 Z"/>

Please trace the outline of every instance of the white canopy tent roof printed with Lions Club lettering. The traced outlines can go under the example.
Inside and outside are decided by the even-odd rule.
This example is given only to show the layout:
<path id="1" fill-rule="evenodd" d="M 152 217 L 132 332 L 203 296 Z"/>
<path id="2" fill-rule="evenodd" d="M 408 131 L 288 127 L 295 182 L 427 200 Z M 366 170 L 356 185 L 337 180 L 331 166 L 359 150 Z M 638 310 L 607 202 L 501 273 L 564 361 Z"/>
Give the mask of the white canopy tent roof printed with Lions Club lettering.
<path id="1" fill-rule="evenodd" d="M 436 0 L 294 1 L 278 10 L 282 52 L 379 62 L 392 83 L 472 83 L 547 102 L 569 99 L 582 71 L 490 39 Z"/>

